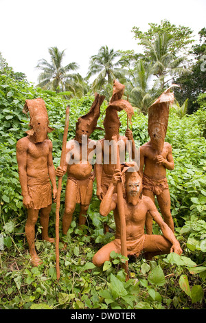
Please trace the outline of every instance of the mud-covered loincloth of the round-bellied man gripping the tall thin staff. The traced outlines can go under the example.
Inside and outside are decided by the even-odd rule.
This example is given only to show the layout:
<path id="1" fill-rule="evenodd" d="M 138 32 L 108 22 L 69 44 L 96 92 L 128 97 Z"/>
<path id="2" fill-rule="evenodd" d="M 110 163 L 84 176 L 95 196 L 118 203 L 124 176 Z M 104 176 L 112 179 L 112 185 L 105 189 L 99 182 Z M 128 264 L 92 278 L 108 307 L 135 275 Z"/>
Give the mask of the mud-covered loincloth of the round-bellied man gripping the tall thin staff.
<path id="1" fill-rule="evenodd" d="M 87 191 L 89 183 L 93 182 L 94 176 L 93 172 L 87 179 L 76 179 L 75 177 L 68 176 L 67 181 L 73 181 L 76 184 L 76 203 L 81 203 L 82 205 L 87 204 Z"/>

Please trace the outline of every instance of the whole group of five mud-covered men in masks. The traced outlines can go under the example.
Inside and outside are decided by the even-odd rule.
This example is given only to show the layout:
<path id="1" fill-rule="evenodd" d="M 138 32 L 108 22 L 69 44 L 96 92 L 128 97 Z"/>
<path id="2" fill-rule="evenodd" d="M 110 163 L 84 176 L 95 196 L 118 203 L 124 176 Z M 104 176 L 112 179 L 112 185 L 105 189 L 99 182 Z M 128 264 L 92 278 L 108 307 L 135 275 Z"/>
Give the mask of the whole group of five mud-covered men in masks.
<path id="1" fill-rule="evenodd" d="M 96 194 L 101 201 L 100 214 L 107 216 L 113 211 L 115 239 L 104 245 L 93 256 L 93 263 L 97 267 L 110 259 L 112 251 L 121 254 L 117 209 L 117 183 L 119 181 L 122 181 L 124 188 L 127 256 L 138 257 L 139 254 L 144 253 L 147 259 L 152 259 L 157 254 L 182 253 L 181 246 L 174 236 L 170 192 L 166 179 L 166 169 L 174 168 L 172 147 L 165 142 L 170 103 L 174 100 L 173 93 L 170 93 L 168 89 L 150 107 L 148 113 L 150 141 L 140 146 L 138 153 L 130 129 L 126 129 L 125 136 L 119 135 L 120 122 L 117 111 L 126 111 L 129 120 L 133 115 L 133 107 L 128 100 L 122 99 L 123 93 L 124 85 L 115 80 L 113 96 L 106 108 L 104 118 L 105 135 L 98 142 L 89 137 L 96 129 L 104 97 L 95 93 L 95 100 L 89 112 L 78 118 L 76 137 L 67 142 L 65 165 L 58 166 L 56 170 L 52 160 L 52 142 L 47 137 L 47 133 L 53 129 L 49 127 L 45 102 L 41 98 L 26 100 L 24 112 L 30 113 L 30 130 L 27 131 L 26 137 L 17 142 L 16 158 L 23 205 L 27 208 L 25 234 L 34 266 L 41 264 L 34 245 L 38 213 L 40 211 L 42 238 L 54 242 L 54 238 L 48 236 L 52 195 L 55 202 L 56 176 L 62 177 L 66 172 L 65 212 L 62 216 L 63 234 L 67 234 L 76 203 L 80 203 L 79 225 L 85 225 L 93 194 L 94 179 L 97 184 Z M 115 142 L 119 151 L 120 147 L 123 147 L 124 156 L 127 143 L 130 142 L 128 151 L 132 161 L 122 163 L 121 171 L 116 169 L 116 161 L 113 161 L 116 153 L 114 153 L 111 142 Z M 91 162 L 93 155 L 96 155 L 94 166 Z M 155 206 L 155 196 L 161 214 Z M 159 225 L 162 234 L 152 234 L 152 221 Z M 107 231 L 108 225 L 106 224 L 104 232 Z"/>

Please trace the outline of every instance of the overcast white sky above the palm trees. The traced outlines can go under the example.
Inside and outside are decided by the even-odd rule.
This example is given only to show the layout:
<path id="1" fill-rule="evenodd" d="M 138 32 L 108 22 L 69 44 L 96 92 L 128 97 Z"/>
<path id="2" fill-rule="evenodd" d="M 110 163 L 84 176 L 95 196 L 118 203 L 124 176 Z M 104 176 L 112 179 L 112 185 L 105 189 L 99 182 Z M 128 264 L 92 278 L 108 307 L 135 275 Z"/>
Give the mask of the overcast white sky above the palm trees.
<path id="1" fill-rule="evenodd" d="M 102 45 L 134 49 L 134 26 L 168 19 L 194 31 L 205 27 L 205 0 L 0 0 L 0 52 L 14 71 L 37 82 L 39 59 L 49 60 L 48 48 L 65 51 L 64 65 L 76 62 L 86 76 L 89 58 Z"/>

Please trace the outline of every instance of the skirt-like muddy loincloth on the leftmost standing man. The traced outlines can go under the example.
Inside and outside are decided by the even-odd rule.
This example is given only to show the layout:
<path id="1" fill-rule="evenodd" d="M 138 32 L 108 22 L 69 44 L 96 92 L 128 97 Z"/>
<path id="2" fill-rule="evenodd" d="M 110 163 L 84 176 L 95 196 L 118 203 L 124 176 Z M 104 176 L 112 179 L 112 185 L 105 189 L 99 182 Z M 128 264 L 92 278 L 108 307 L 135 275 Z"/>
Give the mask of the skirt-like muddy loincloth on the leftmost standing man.
<path id="1" fill-rule="evenodd" d="M 34 210 L 47 208 L 52 204 L 52 186 L 47 179 L 36 179 L 27 176 L 27 190 L 34 203 Z"/>

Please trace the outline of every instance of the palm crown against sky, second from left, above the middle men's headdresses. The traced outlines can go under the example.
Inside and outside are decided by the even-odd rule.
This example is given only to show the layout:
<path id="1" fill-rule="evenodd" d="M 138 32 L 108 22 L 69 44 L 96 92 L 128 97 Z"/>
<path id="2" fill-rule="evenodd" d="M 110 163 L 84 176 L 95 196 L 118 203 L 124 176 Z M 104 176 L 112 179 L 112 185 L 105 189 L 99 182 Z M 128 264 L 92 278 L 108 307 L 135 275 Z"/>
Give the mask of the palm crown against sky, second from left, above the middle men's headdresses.
<path id="1" fill-rule="evenodd" d="M 112 84 L 114 79 L 118 79 L 119 82 L 125 79 L 124 70 L 121 68 L 125 60 L 117 60 L 119 57 L 122 57 L 122 54 L 114 49 L 109 50 L 108 46 L 102 46 L 97 55 L 91 56 L 87 79 L 98 74 L 91 85 L 93 91 L 104 89 L 104 86 Z"/>

